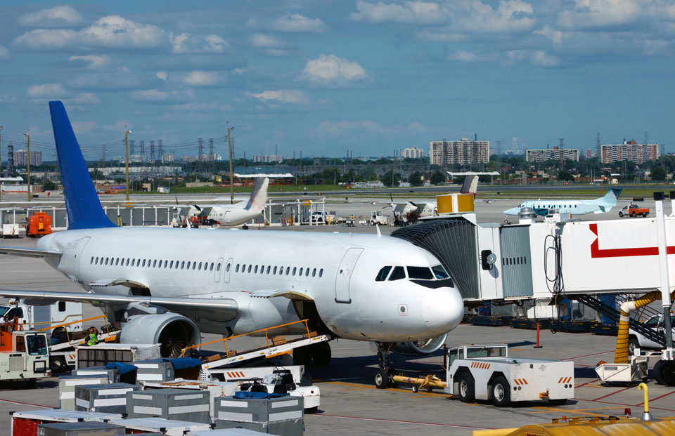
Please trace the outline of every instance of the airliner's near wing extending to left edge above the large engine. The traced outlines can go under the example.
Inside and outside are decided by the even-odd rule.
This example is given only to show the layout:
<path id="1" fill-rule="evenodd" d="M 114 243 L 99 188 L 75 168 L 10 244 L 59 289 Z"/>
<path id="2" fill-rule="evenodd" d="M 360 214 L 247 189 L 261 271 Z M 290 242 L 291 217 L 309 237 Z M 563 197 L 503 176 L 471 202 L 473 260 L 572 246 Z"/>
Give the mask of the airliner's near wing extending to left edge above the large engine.
<path id="1" fill-rule="evenodd" d="M 228 321 L 236 317 L 238 304 L 231 298 L 176 298 L 131 295 L 106 295 L 100 293 L 56 291 L 8 291 L 0 289 L 4 298 L 21 298 L 29 305 L 46 305 L 55 301 L 74 301 L 94 305 L 148 303 L 171 312 L 198 315 L 214 321 Z"/>

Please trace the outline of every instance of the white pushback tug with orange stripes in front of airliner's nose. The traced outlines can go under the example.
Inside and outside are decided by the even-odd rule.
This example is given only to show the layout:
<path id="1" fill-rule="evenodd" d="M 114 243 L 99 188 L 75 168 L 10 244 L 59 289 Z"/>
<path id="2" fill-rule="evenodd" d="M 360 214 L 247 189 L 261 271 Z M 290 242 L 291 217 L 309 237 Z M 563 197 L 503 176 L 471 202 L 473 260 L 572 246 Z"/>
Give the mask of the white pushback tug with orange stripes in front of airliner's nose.
<path id="1" fill-rule="evenodd" d="M 561 405 L 574 397 L 574 362 L 508 357 L 507 345 L 466 345 L 447 351 L 444 391 L 463 402 L 547 399 Z"/>

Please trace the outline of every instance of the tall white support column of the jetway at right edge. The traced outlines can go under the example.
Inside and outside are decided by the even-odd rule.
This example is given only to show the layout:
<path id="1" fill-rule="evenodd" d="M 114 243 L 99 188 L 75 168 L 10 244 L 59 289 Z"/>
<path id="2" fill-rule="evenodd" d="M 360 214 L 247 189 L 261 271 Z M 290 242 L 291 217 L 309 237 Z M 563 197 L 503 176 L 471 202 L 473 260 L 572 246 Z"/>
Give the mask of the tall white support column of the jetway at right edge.
<path id="1" fill-rule="evenodd" d="M 671 196 L 675 191 L 671 191 Z M 662 352 L 664 360 L 675 360 L 673 355 L 673 331 L 670 320 L 670 277 L 668 274 L 668 253 L 666 241 L 665 212 L 663 210 L 663 192 L 655 192 L 656 232 L 659 243 L 659 266 L 661 271 L 661 304 L 663 308 L 663 327 L 666 336 L 666 349 Z M 671 197 L 672 198 L 672 197 Z"/>

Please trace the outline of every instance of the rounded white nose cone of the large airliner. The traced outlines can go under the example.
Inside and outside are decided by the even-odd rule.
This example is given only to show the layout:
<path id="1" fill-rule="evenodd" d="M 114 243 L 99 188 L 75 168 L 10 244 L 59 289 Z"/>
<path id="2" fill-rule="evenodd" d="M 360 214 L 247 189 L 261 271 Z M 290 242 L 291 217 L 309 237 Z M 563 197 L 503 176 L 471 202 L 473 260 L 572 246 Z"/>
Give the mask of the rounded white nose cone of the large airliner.
<path id="1" fill-rule="evenodd" d="M 428 329 L 447 333 L 462 321 L 464 301 L 455 288 L 434 289 L 422 298 L 420 312 Z"/>

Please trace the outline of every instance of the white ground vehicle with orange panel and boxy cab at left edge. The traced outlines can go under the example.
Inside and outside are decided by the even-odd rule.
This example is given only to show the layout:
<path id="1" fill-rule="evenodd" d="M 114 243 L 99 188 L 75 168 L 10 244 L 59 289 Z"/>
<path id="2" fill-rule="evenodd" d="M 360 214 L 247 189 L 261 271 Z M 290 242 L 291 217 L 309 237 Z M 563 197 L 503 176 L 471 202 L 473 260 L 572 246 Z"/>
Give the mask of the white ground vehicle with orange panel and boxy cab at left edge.
<path id="1" fill-rule="evenodd" d="M 21 330 L 18 323 L 0 326 L 0 381 L 26 381 L 34 388 L 38 378 L 51 376 L 47 335 Z"/>

